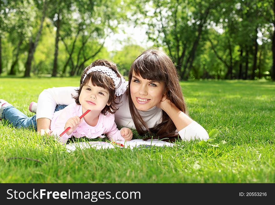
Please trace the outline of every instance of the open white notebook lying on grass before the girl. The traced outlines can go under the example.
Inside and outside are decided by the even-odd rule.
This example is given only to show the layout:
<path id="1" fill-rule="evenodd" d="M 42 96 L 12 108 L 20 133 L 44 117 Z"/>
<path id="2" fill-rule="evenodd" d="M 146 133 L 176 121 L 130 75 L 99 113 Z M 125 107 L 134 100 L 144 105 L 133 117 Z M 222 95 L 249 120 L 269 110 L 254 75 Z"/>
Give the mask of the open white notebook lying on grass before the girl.
<path id="1" fill-rule="evenodd" d="M 172 147 L 174 144 L 169 142 L 164 142 L 158 139 L 147 140 L 144 141 L 143 139 L 133 139 L 130 141 L 121 141 L 117 140 L 115 142 L 77 142 L 66 144 L 66 148 L 68 152 L 74 151 L 75 149 L 87 149 L 87 148 L 94 148 L 94 149 L 108 149 L 108 148 L 150 148 L 152 146 L 169 146 Z"/>

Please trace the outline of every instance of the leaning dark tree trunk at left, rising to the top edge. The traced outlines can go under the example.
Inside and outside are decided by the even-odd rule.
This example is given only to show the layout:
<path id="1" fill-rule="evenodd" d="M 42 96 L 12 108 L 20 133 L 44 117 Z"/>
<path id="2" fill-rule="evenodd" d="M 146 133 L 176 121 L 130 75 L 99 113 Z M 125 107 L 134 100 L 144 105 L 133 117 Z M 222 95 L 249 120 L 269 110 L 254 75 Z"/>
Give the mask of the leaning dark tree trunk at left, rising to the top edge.
<path id="1" fill-rule="evenodd" d="M 42 17 L 41 17 L 40 27 L 39 27 L 39 30 L 37 32 L 35 41 L 32 42 L 32 37 L 30 38 L 29 54 L 28 54 L 27 61 L 26 61 L 26 64 L 25 64 L 26 69 L 25 69 L 24 77 L 30 77 L 33 54 L 34 54 L 35 49 L 37 47 L 37 44 L 38 44 L 38 41 L 39 41 L 39 38 L 40 38 L 40 35 L 41 35 L 41 32 L 42 32 L 42 28 L 43 28 L 43 22 L 44 22 L 44 19 L 46 17 L 46 1 L 43 4 L 44 5 L 43 5 L 43 12 L 42 12 Z"/>

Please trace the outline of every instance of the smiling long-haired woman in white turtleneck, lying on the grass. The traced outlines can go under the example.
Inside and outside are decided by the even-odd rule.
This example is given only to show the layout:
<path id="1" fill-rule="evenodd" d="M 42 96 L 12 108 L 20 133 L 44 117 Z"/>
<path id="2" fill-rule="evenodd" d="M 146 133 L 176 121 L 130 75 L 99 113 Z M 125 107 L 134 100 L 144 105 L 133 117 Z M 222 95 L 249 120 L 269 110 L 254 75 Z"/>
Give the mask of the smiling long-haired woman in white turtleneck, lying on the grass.
<path id="1" fill-rule="evenodd" d="M 49 127 L 56 105 L 73 103 L 77 87 L 43 90 L 38 98 L 37 131 L 51 133 Z M 207 139 L 206 130 L 188 116 L 176 68 L 163 51 L 149 49 L 133 62 L 128 90 L 115 113 L 118 126 L 137 129 L 140 135 L 183 140 Z"/>

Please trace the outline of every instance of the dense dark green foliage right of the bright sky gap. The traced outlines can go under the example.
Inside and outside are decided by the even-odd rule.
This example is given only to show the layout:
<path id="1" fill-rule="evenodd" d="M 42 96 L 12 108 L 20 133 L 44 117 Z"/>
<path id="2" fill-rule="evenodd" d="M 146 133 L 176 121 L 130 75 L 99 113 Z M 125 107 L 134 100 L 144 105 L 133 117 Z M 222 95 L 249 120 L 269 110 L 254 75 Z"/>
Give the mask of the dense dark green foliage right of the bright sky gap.
<path id="1" fill-rule="evenodd" d="M 272 67 L 273 3 L 140 0 L 138 22 L 148 25 L 149 39 L 171 55 L 182 79 L 260 79 Z"/>

